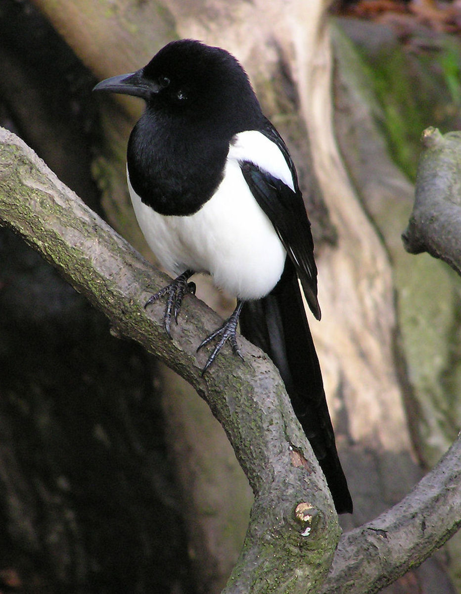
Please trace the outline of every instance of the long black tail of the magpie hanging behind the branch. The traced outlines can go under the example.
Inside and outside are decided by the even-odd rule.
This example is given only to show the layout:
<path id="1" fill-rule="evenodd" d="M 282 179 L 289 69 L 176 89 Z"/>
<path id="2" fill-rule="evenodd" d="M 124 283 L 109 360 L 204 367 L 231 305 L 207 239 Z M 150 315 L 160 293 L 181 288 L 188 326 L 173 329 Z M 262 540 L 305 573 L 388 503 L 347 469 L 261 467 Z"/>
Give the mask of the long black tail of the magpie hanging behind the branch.
<path id="1" fill-rule="evenodd" d="M 336 451 L 319 359 L 289 258 L 275 289 L 259 301 L 244 304 L 240 331 L 278 367 L 295 415 L 325 474 L 337 513 L 352 513 L 352 498 Z"/>

